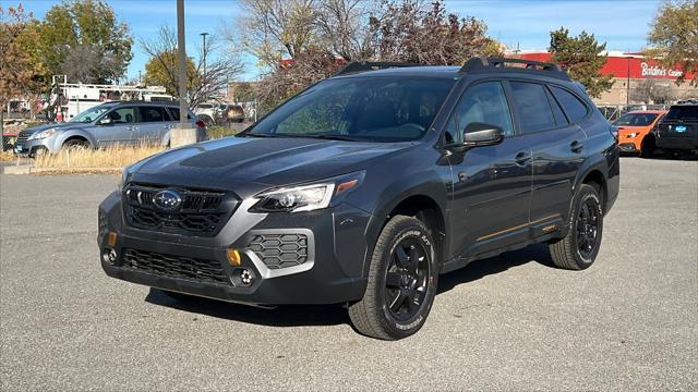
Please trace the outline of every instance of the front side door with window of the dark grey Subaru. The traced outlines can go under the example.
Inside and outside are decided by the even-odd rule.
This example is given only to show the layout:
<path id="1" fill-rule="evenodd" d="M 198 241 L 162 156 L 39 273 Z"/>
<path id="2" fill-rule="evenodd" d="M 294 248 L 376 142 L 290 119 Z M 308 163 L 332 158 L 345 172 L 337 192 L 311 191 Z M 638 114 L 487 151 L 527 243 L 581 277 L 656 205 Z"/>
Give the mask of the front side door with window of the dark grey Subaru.
<path id="1" fill-rule="evenodd" d="M 445 142 L 461 142 L 470 123 L 504 131 L 494 146 L 449 157 L 454 171 L 452 220 L 456 254 L 476 256 L 526 240 L 531 196 L 531 149 L 517 137 L 509 101 L 501 81 L 469 86 L 450 114 Z"/>

